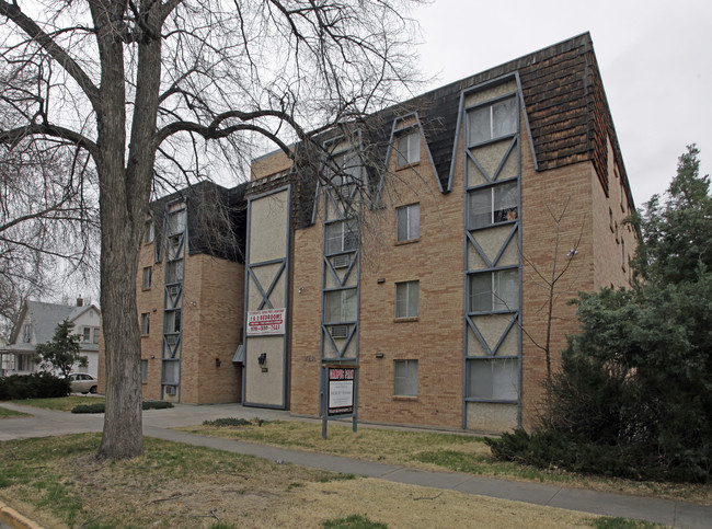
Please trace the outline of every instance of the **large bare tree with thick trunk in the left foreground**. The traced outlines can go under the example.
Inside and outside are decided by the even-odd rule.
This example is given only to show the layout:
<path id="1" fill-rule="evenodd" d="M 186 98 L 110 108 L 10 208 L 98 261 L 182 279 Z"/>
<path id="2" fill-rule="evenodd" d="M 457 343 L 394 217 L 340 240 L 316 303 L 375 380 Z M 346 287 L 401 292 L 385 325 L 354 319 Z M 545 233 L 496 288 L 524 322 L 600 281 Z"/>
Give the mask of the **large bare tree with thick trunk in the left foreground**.
<path id="1" fill-rule="evenodd" d="M 406 2 L 0 0 L 0 57 L 27 137 L 87 151 L 99 179 L 106 414 L 100 456 L 142 450 L 135 281 L 151 186 L 241 168 L 264 140 L 292 154 L 399 95 L 411 76 Z M 39 15 L 36 13 L 41 13 Z M 24 90 L 24 89 L 23 89 Z M 311 133 L 306 133 L 309 129 Z M 262 139 L 261 139 L 262 138 Z"/>

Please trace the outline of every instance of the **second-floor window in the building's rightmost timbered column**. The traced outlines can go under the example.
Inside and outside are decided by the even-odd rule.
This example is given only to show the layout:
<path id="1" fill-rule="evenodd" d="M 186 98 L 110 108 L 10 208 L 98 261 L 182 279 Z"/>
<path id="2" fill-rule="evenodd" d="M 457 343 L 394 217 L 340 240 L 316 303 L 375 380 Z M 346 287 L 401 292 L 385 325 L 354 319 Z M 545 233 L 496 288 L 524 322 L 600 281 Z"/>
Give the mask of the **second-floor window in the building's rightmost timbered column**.
<path id="1" fill-rule="evenodd" d="M 482 272 L 470 276 L 470 312 L 519 308 L 519 271 Z"/>

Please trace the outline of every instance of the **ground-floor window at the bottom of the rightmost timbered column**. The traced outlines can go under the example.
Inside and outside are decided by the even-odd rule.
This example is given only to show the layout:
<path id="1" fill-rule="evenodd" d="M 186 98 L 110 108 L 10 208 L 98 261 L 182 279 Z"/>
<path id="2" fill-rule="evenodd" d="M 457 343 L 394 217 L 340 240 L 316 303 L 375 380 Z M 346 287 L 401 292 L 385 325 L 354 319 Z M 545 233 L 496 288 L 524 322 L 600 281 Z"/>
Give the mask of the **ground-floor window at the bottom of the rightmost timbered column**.
<path id="1" fill-rule="evenodd" d="M 519 360 L 493 358 L 468 364 L 468 396 L 516 401 L 519 398 Z"/>

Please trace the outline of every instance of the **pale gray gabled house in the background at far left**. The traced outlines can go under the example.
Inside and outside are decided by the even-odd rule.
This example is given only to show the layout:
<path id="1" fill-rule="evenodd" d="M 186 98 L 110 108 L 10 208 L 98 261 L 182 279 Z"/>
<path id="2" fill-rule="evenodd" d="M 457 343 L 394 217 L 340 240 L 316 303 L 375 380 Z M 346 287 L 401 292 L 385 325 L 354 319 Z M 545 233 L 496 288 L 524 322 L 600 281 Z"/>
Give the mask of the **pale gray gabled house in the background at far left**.
<path id="1" fill-rule="evenodd" d="M 81 336 L 79 352 L 88 359 L 88 366 L 77 366 L 76 371 L 96 377 L 100 317 L 100 310 L 93 304 L 84 306 L 82 299 L 77 300 L 77 306 L 26 301 L 10 336 L 10 343 L 0 347 L 4 376 L 39 371 L 39 366 L 34 361 L 35 346 L 50 341 L 57 325 L 69 320 L 74 324 L 74 334 Z"/>

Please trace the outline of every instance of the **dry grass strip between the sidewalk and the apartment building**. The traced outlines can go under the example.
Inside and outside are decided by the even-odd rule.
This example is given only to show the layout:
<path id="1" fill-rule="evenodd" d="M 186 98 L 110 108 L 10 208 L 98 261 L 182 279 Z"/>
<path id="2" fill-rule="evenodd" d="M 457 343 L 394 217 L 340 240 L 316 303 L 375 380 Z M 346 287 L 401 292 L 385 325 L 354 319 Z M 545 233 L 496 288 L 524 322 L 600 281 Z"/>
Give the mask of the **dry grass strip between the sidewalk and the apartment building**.
<path id="1" fill-rule="evenodd" d="M 180 428 L 200 435 L 233 438 L 264 445 L 382 461 L 429 470 L 450 470 L 504 479 L 539 481 L 597 491 L 655 496 L 712 505 L 712 486 L 635 482 L 618 478 L 584 475 L 559 469 L 542 470 L 513 462 L 496 461 L 482 438 L 460 434 L 433 434 L 329 424 L 329 438 L 321 438 L 321 424 L 313 422 L 256 421 L 244 426 L 202 426 Z"/>

